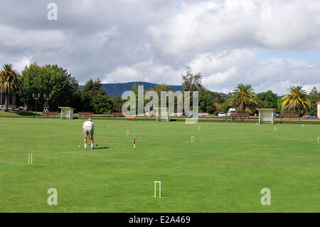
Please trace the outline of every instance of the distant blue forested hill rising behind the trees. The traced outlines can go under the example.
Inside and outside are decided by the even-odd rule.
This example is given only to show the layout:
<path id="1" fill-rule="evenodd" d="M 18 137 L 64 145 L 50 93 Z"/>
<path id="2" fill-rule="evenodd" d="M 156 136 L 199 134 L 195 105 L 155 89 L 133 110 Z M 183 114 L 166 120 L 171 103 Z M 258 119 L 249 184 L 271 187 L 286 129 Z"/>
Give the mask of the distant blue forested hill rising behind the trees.
<path id="1" fill-rule="evenodd" d="M 137 82 L 138 85 L 144 85 L 144 90 L 148 90 L 148 88 L 156 88 L 156 83 L 148 83 L 148 82 Z M 126 90 L 132 90 L 132 86 L 134 85 L 134 82 L 129 83 L 102 83 L 102 88 L 105 89 L 105 91 L 110 95 L 111 97 L 119 97 L 122 96 L 122 93 L 124 93 Z M 170 85 L 171 90 L 182 91 L 181 85 Z M 85 87 L 85 85 L 80 85 L 79 88 L 82 90 L 82 88 Z"/>

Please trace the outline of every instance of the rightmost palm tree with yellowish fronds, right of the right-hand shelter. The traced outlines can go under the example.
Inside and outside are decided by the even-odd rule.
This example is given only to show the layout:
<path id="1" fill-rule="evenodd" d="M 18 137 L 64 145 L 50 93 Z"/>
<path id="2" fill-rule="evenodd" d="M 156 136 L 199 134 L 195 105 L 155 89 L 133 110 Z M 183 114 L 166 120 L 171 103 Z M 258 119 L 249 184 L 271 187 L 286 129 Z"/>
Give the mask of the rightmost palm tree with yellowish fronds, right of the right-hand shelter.
<path id="1" fill-rule="evenodd" d="M 287 92 L 289 94 L 282 97 L 283 110 L 294 110 L 295 113 L 298 113 L 298 110 L 310 109 L 311 103 L 302 86 L 291 86 L 287 89 Z"/>

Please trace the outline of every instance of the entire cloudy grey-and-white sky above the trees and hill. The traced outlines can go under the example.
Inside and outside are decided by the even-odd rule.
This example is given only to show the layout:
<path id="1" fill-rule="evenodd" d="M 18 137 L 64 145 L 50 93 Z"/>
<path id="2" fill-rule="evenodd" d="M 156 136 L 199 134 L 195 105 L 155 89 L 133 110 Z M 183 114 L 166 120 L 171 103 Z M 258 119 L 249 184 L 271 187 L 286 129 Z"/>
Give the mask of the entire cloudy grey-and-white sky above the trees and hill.
<path id="1" fill-rule="evenodd" d="M 48 20 L 54 2 L 58 20 Z M 57 63 L 84 84 L 181 84 L 190 67 L 209 90 L 238 83 L 283 95 L 320 90 L 319 0 L 0 0 L 0 63 Z"/>

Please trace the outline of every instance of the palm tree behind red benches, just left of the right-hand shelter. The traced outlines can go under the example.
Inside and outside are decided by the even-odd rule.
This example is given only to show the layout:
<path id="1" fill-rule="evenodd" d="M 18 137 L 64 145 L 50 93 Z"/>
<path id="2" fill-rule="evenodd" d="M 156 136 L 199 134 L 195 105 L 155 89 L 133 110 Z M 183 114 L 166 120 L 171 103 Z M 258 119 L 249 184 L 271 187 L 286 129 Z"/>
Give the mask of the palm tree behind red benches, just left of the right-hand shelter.
<path id="1" fill-rule="evenodd" d="M 238 107 L 242 112 L 245 112 L 245 107 L 257 105 L 257 95 L 255 95 L 253 91 L 252 85 L 240 83 L 235 90 L 233 90 L 229 103 L 231 101 L 231 105 L 234 105 L 234 107 Z"/>

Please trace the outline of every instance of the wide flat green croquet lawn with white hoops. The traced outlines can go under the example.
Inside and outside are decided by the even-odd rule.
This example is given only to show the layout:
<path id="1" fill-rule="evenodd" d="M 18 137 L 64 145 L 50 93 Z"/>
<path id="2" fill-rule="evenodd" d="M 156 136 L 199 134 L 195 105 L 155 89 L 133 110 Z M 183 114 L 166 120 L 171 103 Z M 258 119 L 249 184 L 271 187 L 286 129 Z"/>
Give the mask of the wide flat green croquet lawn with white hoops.
<path id="1" fill-rule="evenodd" d="M 95 120 L 92 151 L 83 121 L 0 118 L 0 212 L 320 211 L 320 125 Z"/>

